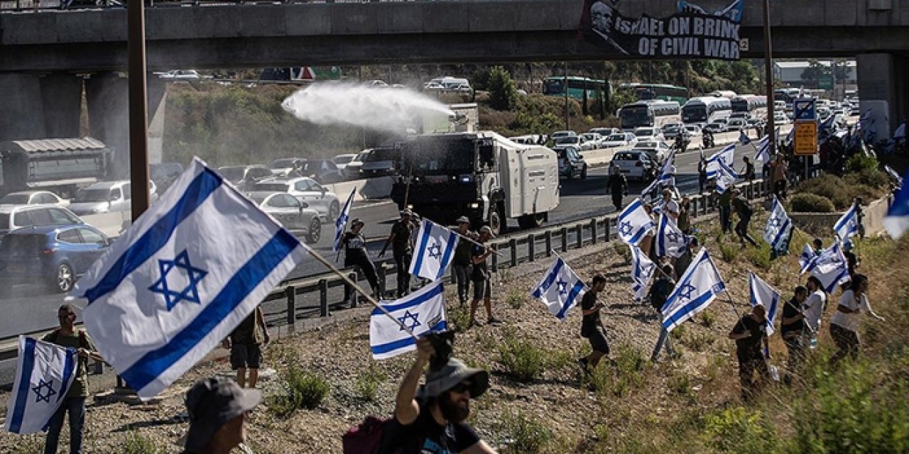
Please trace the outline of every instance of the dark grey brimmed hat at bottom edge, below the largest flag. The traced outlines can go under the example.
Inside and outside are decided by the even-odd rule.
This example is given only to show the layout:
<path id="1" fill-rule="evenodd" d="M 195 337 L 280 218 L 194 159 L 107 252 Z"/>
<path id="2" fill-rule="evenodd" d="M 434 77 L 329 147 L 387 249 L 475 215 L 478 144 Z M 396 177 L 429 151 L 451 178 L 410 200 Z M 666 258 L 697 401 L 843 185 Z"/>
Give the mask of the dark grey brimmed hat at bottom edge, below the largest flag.
<path id="1" fill-rule="evenodd" d="M 262 401 L 259 390 L 244 390 L 234 380 L 199 380 L 186 391 L 189 433 L 186 449 L 205 449 L 215 432 L 227 421 L 255 409 Z"/>

